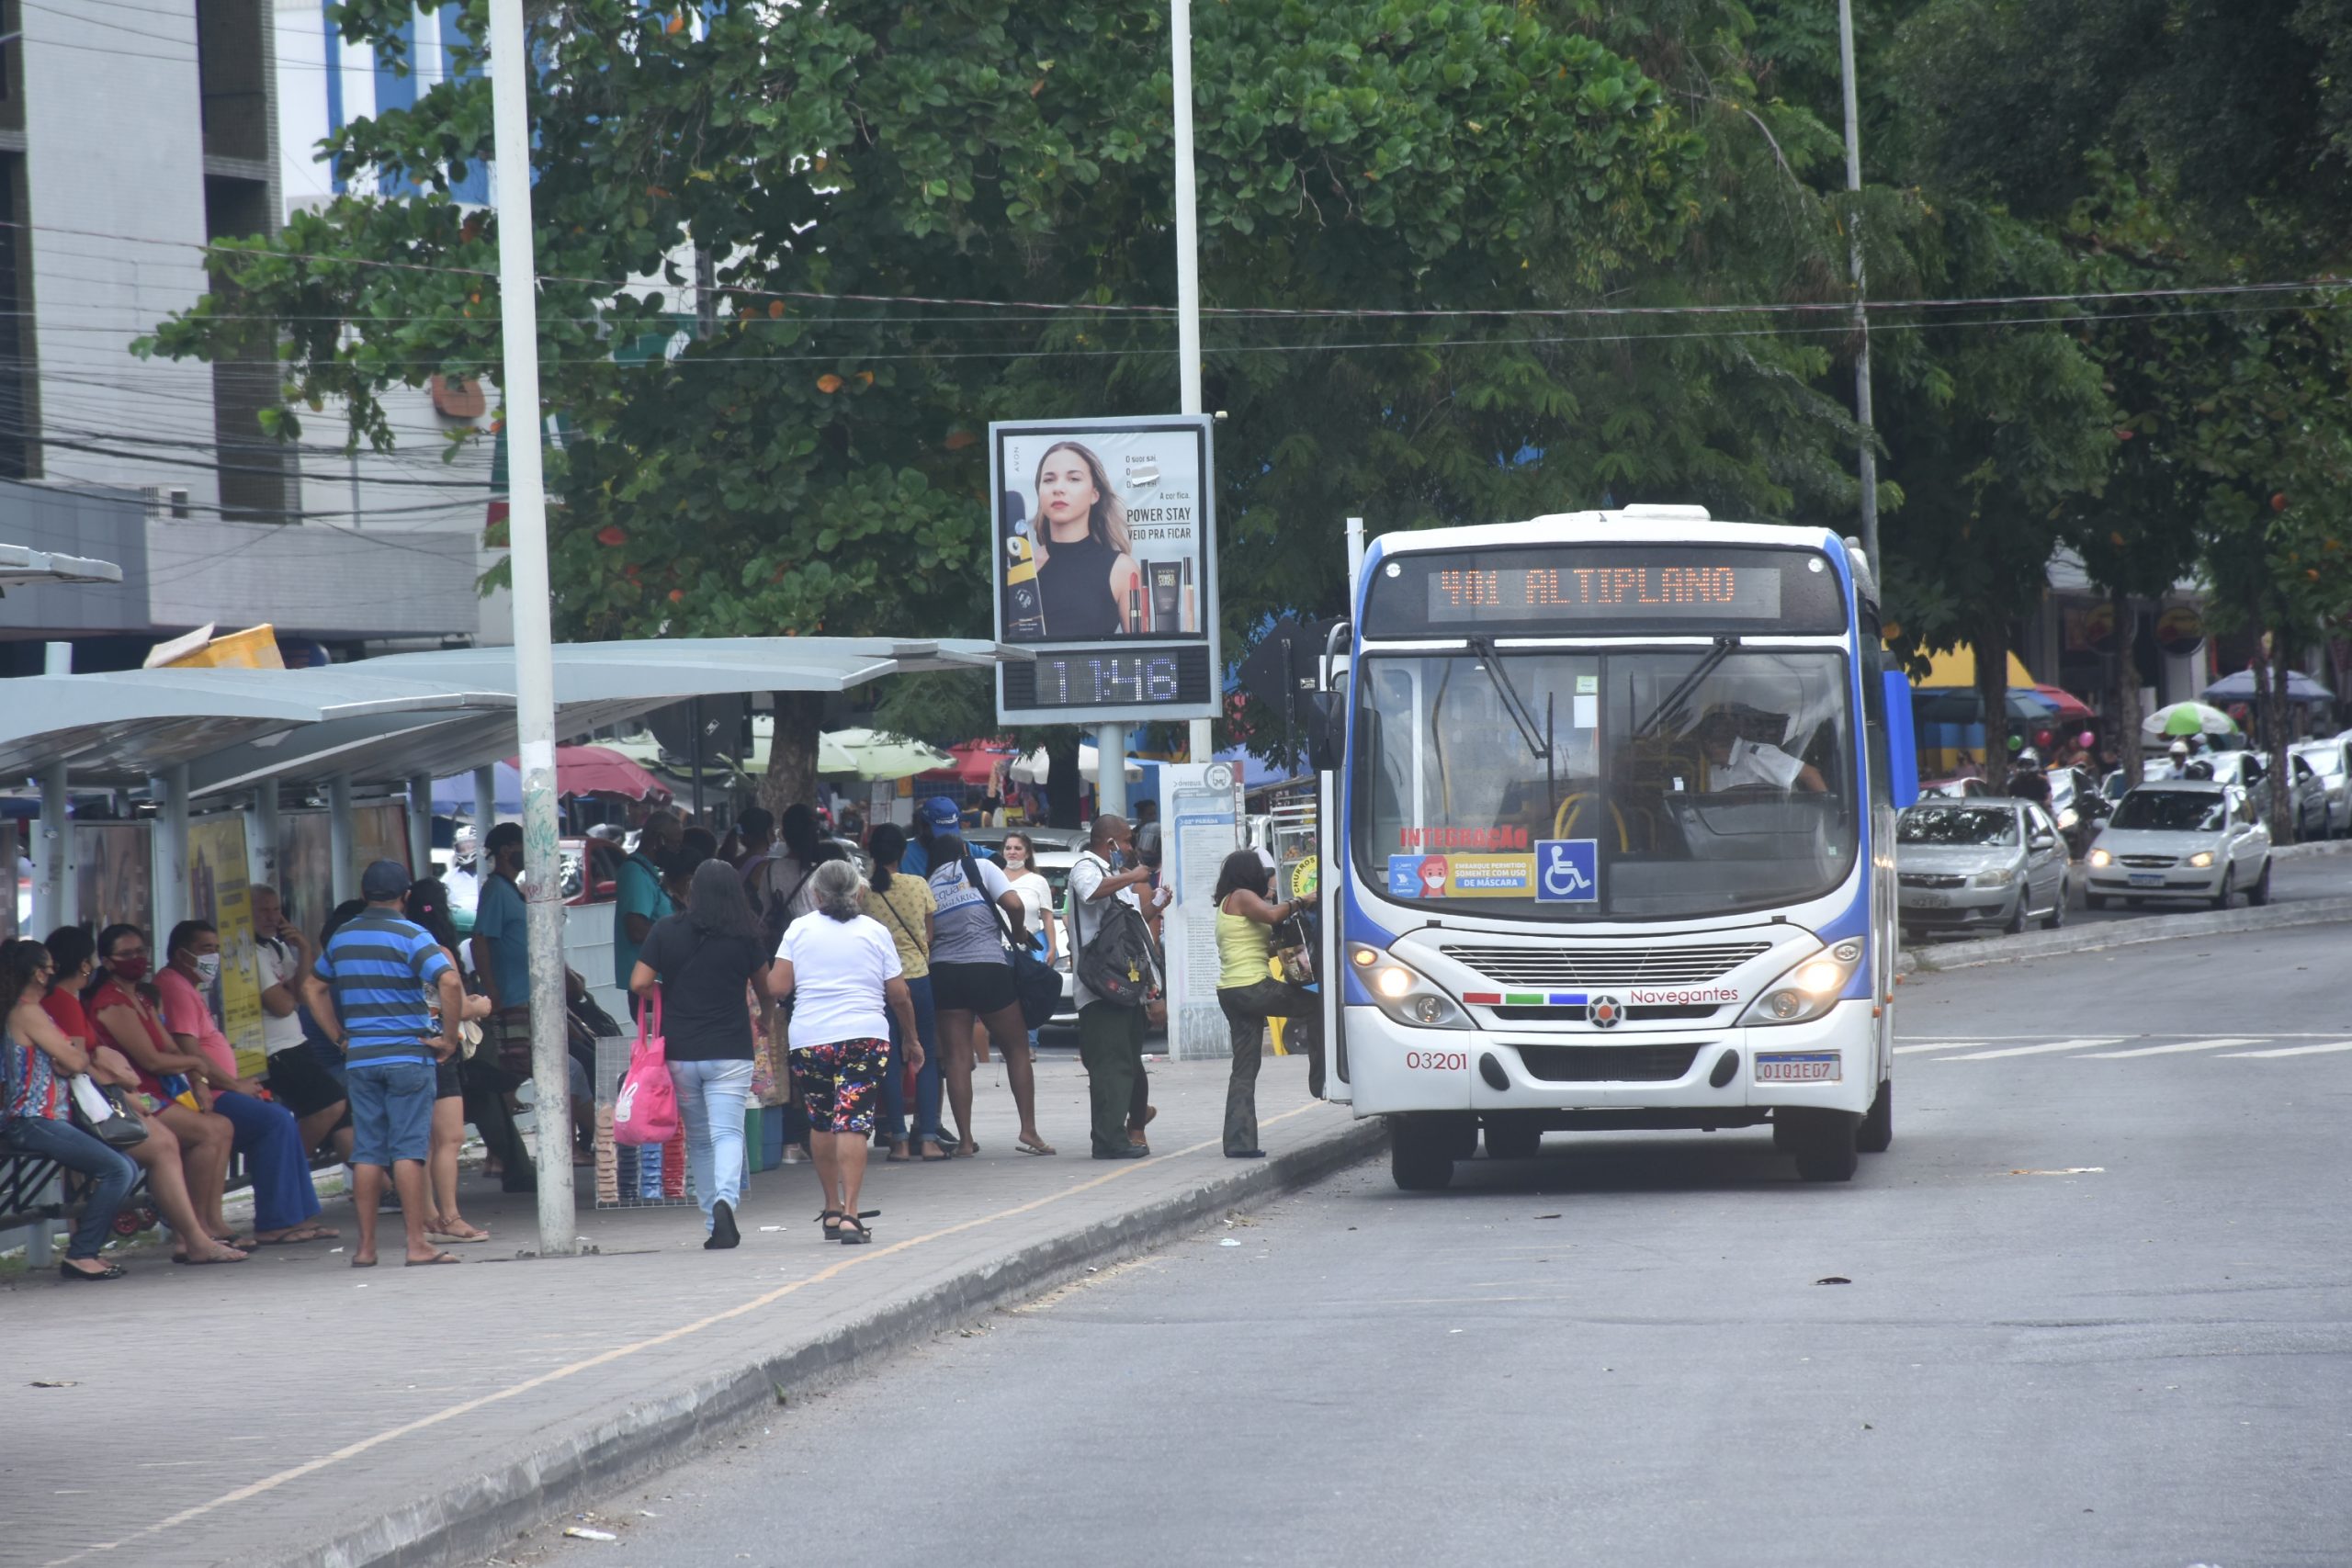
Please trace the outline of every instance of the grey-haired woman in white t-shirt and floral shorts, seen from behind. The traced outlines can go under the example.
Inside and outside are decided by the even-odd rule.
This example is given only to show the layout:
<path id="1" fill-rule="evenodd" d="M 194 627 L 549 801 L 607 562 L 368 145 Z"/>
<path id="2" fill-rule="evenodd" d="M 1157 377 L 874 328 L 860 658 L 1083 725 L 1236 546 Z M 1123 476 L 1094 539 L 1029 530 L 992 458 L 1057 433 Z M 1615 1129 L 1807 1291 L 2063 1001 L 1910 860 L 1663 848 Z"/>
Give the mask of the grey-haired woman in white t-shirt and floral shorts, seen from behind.
<path id="1" fill-rule="evenodd" d="M 793 1081 L 809 1112 L 809 1152 L 826 1208 L 816 1215 L 828 1241 L 861 1246 L 866 1220 L 880 1208 L 858 1208 L 866 1182 L 866 1140 L 875 1131 L 875 1103 L 889 1063 L 889 1020 L 898 1018 L 908 1065 L 922 1067 L 915 1034 L 915 997 L 898 969 L 898 945 L 866 914 L 866 884 L 849 860 L 828 860 L 809 877 L 816 900 L 783 931 L 767 987 L 779 1001 L 793 997 L 786 1044 Z"/>

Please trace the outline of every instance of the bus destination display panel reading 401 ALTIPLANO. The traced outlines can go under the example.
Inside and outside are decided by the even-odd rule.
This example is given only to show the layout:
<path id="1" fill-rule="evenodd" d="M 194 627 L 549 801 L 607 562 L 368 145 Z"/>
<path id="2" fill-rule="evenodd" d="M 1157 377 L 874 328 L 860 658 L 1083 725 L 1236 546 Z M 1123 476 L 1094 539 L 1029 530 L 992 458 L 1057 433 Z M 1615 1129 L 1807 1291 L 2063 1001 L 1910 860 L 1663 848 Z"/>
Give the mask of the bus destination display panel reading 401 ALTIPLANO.
<path id="1" fill-rule="evenodd" d="M 1842 632 L 1844 588 L 1816 550 L 1536 545 L 1399 552 L 1367 595 L 1367 637 L 1585 632 Z"/>

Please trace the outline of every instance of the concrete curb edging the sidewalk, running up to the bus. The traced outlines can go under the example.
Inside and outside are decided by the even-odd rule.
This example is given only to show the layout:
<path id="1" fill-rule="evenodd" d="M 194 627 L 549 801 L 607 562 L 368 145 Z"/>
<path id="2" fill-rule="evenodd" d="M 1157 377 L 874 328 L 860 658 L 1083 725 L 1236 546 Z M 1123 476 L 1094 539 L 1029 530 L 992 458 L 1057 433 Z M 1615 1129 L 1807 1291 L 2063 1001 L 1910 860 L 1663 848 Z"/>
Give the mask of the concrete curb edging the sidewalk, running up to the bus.
<path id="1" fill-rule="evenodd" d="M 1148 1251 L 1225 1208 L 1317 1182 L 1374 1157 L 1385 1143 L 1383 1121 L 1350 1121 L 1263 1164 L 1251 1161 L 1124 1215 L 1035 1241 L 779 1356 L 734 1366 L 668 1399 L 637 1403 L 590 1432 L 553 1439 L 489 1474 L 452 1483 L 318 1547 L 278 1556 L 268 1568 L 423 1568 L 492 1556 L 517 1533 L 731 1436 L 755 1415 L 774 1410 L 776 1389 L 807 1394 L 906 1345 L 967 1324 L 976 1312 L 1040 1295 L 1075 1279 L 1087 1265 Z"/>

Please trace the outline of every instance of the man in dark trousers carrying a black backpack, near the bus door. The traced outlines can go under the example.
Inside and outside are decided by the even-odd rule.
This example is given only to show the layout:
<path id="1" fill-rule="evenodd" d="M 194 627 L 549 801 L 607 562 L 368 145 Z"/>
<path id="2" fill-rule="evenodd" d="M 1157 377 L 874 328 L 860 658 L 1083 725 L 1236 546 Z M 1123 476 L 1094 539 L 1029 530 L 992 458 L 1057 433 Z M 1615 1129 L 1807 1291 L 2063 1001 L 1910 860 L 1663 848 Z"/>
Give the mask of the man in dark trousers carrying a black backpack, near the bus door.
<path id="1" fill-rule="evenodd" d="M 1136 889 L 1152 867 L 1131 863 L 1122 816 L 1094 818 L 1094 837 L 1070 867 L 1070 976 L 1077 990 L 1077 1058 L 1087 1065 L 1096 1159 L 1143 1159 L 1127 1135 L 1143 1072 L 1145 1001 L 1157 954 Z"/>

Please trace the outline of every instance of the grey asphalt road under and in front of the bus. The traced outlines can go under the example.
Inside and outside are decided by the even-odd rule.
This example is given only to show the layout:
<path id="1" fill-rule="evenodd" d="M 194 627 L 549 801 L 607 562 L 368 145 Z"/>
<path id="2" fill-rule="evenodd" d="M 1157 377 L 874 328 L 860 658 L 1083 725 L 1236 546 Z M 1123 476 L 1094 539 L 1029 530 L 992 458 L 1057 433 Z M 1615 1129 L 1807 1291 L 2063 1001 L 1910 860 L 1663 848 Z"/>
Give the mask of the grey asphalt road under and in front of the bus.
<path id="1" fill-rule="evenodd" d="M 501 1561 L 2352 1561 L 2343 926 L 1919 976 L 1896 1145 L 1350 1171 Z"/>

